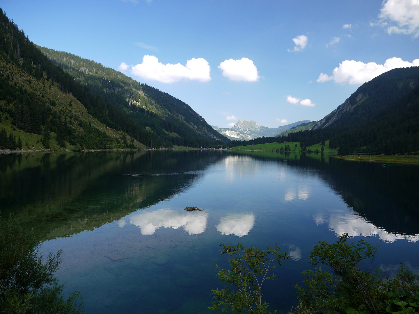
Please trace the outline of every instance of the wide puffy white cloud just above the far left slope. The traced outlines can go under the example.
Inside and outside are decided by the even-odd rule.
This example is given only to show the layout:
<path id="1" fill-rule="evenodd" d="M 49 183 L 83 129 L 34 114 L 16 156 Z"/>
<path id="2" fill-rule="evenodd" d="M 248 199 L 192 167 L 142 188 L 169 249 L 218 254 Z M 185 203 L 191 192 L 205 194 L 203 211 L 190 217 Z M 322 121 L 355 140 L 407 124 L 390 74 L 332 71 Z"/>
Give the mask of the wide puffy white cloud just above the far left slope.
<path id="1" fill-rule="evenodd" d="M 146 80 L 155 80 L 162 83 L 174 83 L 181 80 L 196 80 L 199 82 L 211 80 L 209 64 L 207 60 L 202 58 L 192 58 L 186 62 L 185 66 L 180 63 L 162 64 L 158 62 L 156 57 L 147 54 L 142 58 L 142 63 L 131 66 L 130 72 L 132 75 Z"/>

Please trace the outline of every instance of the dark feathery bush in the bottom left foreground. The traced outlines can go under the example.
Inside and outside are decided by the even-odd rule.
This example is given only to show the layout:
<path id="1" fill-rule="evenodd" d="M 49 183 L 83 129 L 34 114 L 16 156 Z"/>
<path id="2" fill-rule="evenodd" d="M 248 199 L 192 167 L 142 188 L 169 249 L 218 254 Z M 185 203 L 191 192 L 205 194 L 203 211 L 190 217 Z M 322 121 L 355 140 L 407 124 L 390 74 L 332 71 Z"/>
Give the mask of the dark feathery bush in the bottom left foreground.
<path id="1" fill-rule="evenodd" d="M 61 263 L 60 251 L 43 261 L 41 243 L 30 230 L 12 219 L 0 218 L 0 312 L 21 314 L 81 314 L 80 292 L 62 296 L 65 283 L 54 273 Z"/>

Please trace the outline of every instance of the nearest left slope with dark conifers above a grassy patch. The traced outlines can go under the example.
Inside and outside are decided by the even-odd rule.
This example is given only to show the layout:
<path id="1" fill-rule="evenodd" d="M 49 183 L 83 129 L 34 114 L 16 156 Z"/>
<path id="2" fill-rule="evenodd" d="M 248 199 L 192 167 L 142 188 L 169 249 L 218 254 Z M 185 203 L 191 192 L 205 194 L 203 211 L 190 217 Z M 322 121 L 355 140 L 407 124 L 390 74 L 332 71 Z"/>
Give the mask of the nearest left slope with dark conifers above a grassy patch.
<path id="1" fill-rule="evenodd" d="M 145 148 L 94 118 L 100 100 L 52 64 L 1 9 L 0 29 L 0 149 Z"/>

